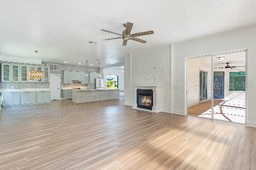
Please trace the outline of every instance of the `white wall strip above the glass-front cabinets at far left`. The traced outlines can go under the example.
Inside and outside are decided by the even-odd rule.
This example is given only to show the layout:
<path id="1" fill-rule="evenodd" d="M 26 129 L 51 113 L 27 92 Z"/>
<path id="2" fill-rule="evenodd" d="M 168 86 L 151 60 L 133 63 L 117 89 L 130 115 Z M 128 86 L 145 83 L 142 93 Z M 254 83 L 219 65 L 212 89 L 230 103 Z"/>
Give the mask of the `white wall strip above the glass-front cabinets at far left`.
<path id="1" fill-rule="evenodd" d="M 25 57 L 14 57 L 0 54 L 0 61 L 17 62 L 17 63 L 28 63 L 28 64 L 41 64 L 41 60 L 31 59 Z"/>

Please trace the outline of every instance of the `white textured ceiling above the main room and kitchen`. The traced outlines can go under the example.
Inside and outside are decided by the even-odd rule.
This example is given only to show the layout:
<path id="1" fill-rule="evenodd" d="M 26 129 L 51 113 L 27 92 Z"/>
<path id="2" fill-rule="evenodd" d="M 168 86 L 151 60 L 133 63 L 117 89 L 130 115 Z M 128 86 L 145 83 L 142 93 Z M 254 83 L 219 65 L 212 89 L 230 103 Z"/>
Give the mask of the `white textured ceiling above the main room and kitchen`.
<path id="1" fill-rule="evenodd" d="M 102 41 L 121 33 L 124 22 L 133 22 L 132 33 L 153 30 L 139 38 L 141 44 L 122 39 Z M 0 53 L 69 64 L 89 60 L 98 66 L 123 63 L 136 52 L 176 41 L 196 38 L 256 22 L 255 0 L 168 1 L 0 1 Z M 96 41 L 98 44 L 89 44 Z M 39 53 L 35 54 L 34 50 Z"/>

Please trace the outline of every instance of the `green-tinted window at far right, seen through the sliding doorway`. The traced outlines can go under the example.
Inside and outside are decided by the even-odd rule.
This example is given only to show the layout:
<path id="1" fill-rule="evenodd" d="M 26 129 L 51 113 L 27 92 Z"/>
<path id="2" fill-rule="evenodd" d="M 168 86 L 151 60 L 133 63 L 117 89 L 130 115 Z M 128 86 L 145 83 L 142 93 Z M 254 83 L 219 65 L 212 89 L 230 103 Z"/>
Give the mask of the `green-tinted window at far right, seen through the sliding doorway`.
<path id="1" fill-rule="evenodd" d="M 229 72 L 229 91 L 245 91 L 245 71 Z"/>

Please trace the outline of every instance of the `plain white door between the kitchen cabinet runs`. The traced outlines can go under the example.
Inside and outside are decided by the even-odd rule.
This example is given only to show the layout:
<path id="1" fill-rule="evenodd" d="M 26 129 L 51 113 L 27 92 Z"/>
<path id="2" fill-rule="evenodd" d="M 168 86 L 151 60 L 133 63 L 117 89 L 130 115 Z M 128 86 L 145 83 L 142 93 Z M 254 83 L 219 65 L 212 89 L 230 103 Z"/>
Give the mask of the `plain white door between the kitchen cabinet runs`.
<path id="1" fill-rule="evenodd" d="M 60 100 L 60 75 L 50 75 L 50 99 Z"/>

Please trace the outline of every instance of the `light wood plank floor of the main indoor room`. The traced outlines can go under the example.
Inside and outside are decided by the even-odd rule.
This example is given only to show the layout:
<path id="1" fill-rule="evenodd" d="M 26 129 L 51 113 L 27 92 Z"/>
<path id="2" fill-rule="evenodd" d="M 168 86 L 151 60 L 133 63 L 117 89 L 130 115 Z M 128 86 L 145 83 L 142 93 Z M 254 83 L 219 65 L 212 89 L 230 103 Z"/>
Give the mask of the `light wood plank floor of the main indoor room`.
<path id="1" fill-rule="evenodd" d="M 0 169 L 256 169 L 256 130 L 123 100 L 3 108 Z"/>

